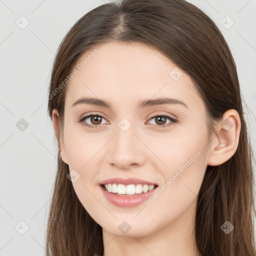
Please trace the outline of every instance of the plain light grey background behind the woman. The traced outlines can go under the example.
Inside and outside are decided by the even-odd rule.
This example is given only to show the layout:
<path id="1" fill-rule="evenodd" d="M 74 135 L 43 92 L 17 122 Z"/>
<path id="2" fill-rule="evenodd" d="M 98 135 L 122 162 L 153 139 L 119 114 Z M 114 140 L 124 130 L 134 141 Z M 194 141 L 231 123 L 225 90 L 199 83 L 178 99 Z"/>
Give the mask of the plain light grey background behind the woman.
<path id="1" fill-rule="evenodd" d="M 47 115 L 50 70 L 65 33 L 104 2 L 0 0 L 0 255 L 45 255 L 57 155 Z M 189 2 L 213 19 L 231 49 L 256 151 L 256 0 Z M 21 15 L 29 21 L 23 29 Z M 226 15 L 234 21 L 229 29 Z M 28 123 L 23 131 L 16 127 L 21 118 Z M 21 220 L 29 226 L 24 234 Z"/>

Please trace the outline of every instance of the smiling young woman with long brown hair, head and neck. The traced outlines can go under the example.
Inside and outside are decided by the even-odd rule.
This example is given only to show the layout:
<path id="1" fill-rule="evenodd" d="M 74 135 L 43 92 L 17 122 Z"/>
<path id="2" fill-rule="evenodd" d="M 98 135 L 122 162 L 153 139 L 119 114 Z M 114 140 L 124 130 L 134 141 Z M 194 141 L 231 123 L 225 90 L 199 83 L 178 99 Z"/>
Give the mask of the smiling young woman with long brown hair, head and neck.
<path id="1" fill-rule="evenodd" d="M 197 7 L 86 13 L 58 49 L 48 112 L 59 154 L 47 255 L 256 254 L 236 66 Z"/>

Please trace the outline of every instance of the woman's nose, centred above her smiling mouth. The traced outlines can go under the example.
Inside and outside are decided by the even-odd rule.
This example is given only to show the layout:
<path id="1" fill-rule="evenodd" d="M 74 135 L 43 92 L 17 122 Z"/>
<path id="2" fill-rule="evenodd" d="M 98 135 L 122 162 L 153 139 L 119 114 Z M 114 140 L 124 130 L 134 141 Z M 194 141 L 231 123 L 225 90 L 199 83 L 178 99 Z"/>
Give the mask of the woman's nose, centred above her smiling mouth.
<path id="1" fill-rule="evenodd" d="M 109 141 L 108 162 L 119 169 L 140 166 L 145 161 L 145 145 L 134 133 L 133 126 L 123 131 L 119 127 Z"/>

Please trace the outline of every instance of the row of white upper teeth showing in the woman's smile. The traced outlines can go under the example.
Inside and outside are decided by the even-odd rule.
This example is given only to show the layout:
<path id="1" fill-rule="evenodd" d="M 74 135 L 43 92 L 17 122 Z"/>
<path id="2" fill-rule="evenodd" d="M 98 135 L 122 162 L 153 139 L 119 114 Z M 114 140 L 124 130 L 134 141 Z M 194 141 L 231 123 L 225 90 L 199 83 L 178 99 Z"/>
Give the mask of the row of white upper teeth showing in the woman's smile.
<path id="1" fill-rule="evenodd" d="M 147 184 L 105 184 L 104 185 L 105 189 L 108 192 L 112 193 L 117 193 L 117 194 L 126 194 L 126 195 L 131 195 L 131 194 L 140 194 L 140 193 L 145 193 L 147 191 L 150 191 L 154 188 L 154 185 L 147 185 Z"/>

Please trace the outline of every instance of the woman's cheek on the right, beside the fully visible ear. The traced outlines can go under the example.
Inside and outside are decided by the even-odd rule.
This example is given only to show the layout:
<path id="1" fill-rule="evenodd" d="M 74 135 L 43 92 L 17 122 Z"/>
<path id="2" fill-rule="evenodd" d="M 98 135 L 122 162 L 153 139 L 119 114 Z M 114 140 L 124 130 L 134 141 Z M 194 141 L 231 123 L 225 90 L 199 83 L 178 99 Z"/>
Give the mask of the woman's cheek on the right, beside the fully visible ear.
<path id="1" fill-rule="evenodd" d="M 191 127 L 191 126 L 190 126 Z M 196 125 L 189 131 L 180 130 L 175 136 L 170 135 L 165 141 L 159 141 L 154 145 L 155 154 L 166 165 L 159 168 L 161 177 L 164 180 L 159 187 L 158 193 L 153 196 L 152 201 L 158 201 L 157 205 L 165 207 L 166 201 L 171 205 L 179 205 L 173 209 L 182 211 L 190 204 L 198 194 L 207 164 L 205 157 L 208 142 L 206 126 L 198 129 Z M 171 207 L 171 206 L 170 206 Z"/>

